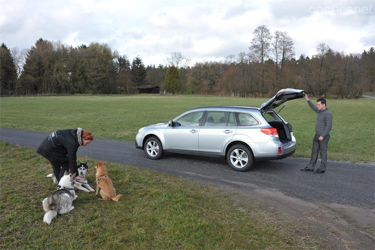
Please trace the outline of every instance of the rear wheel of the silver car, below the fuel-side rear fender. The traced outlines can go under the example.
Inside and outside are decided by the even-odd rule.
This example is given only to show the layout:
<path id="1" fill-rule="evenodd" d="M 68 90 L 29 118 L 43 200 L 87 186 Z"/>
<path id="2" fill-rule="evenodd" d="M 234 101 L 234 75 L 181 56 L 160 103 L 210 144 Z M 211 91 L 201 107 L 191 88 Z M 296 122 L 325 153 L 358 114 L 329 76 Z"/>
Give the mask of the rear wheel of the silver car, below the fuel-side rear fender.
<path id="1" fill-rule="evenodd" d="M 238 172 L 248 171 L 253 163 L 254 157 L 251 150 L 242 144 L 233 145 L 226 154 L 229 167 Z"/>

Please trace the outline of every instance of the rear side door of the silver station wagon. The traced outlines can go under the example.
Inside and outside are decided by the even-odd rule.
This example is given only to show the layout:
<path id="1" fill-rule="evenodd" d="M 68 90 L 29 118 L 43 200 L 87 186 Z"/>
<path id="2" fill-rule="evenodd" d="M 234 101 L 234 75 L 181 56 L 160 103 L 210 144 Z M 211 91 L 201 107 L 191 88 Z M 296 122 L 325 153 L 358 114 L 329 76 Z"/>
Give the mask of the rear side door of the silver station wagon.
<path id="1" fill-rule="evenodd" d="M 205 117 L 199 131 L 199 152 L 222 154 L 224 145 L 236 134 L 234 112 L 207 111 Z"/>

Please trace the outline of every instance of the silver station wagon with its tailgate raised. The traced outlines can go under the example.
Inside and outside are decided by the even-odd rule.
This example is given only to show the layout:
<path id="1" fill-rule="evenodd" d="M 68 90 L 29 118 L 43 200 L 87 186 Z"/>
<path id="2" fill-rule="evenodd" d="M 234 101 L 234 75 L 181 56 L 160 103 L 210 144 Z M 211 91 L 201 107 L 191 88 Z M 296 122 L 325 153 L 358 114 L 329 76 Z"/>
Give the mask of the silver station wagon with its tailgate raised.
<path id="1" fill-rule="evenodd" d="M 296 151 L 292 126 L 273 109 L 303 95 L 304 90 L 282 89 L 261 107 L 193 108 L 167 123 L 140 128 L 135 146 L 154 160 L 165 152 L 223 157 L 243 172 L 255 161 L 279 160 Z"/>

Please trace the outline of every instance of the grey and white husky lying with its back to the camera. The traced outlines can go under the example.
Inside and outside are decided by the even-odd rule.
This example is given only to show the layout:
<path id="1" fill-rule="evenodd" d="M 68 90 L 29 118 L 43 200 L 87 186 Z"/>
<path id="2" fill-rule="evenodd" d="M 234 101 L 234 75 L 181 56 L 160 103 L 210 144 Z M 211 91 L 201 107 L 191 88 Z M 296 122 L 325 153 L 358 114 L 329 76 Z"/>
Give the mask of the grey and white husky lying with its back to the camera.
<path id="1" fill-rule="evenodd" d="M 74 209 L 72 206 L 73 200 L 77 199 L 74 191 L 74 180 L 75 173 L 69 175 L 68 171 L 65 171 L 64 176 L 60 179 L 57 185 L 56 191 L 44 198 L 43 209 L 46 212 L 43 217 L 43 221 L 47 224 L 51 224 L 53 218 L 57 214 L 65 214 Z"/>

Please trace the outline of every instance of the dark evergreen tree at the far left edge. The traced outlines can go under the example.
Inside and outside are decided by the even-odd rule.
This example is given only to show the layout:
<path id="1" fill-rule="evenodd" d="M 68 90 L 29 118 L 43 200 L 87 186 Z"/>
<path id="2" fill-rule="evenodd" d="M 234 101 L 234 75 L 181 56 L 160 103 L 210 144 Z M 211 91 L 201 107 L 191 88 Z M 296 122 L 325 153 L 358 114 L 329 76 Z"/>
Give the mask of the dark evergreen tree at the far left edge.
<path id="1" fill-rule="evenodd" d="M 9 48 L 4 43 L 0 47 L 0 91 L 1 94 L 17 92 L 17 69 Z"/>

